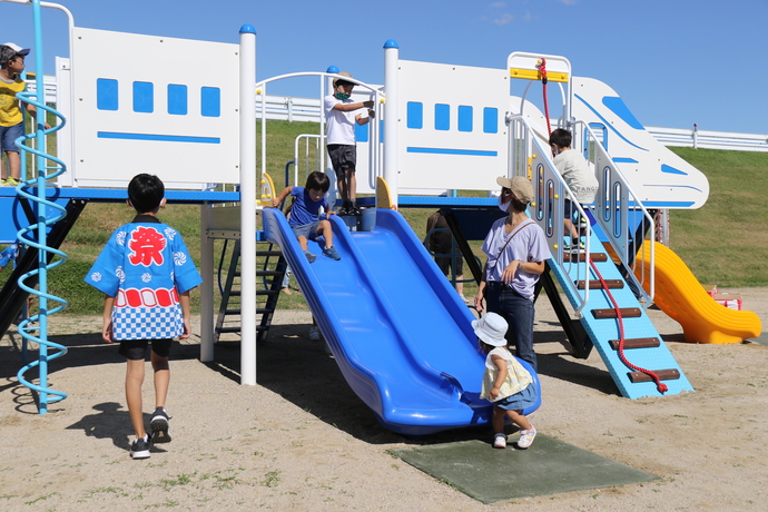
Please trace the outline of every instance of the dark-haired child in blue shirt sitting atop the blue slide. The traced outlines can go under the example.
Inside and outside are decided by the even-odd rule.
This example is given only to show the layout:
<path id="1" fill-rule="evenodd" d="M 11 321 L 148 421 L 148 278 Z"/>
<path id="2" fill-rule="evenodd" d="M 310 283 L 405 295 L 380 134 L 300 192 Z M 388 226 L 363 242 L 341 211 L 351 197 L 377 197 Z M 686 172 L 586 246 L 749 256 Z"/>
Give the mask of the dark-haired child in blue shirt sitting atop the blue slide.
<path id="1" fill-rule="evenodd" d="M 294 204 L 291 207 L 291 218 L 288 225 L 294 230 L 298 245 L 302 246 L 304 255 L 309 263 L 315 260 L 315 255 L 309 252 L 307 240 L 315 240 L 318 236 L 325 238 L 325 248 L 323 255 L 331 259 L 342 259 L 342 256 L 333 245 L 333 227 L 326 219 L 319 220 L 319 209 L 324 208 L 328 215 L 334 215 L 328 209 L 328 199 L 326 194 L 331 187 L 328 177 L 315 170 L 307 177 L 305 187 L 285 187 L 279 196 L 272 200 L 272 206 L 277 208 L 288 195 L 294 197 Z"/>

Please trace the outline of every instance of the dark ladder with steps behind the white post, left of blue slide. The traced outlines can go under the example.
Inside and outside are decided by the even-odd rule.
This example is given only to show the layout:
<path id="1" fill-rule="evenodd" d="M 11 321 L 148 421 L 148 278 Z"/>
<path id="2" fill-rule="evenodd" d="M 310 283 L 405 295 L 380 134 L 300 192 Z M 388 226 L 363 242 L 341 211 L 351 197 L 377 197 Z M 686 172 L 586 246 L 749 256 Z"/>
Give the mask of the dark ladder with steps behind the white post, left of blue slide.
<path id="1" fill-rule="evenodd" d="M 240 240 L 236 240 L 233 247 L 232 256 L 229 258 L 229 267 L 227 270 L 227 278 L 221 284 L 221 269 L 224 260 L 226 259 L 227 245 L 229 240 L 225 240 L 224 249 L 221 252 L 221 259 L 219 262 L 219 291 L 221 293 L 221 303 L 219 305 L 218 316 L 216 318 L 216 328 L 214 329 L 214 343 L 218 343 L 221 334 L 239 333 L 240 322 L 239 317 L 243 315 L 240 309 Z M 259 244 L 265 247 L 259 249 Z M 260 286 L 256 289 L 256 315 L 260 316 L 260 322 L 256 327 L 256 341 L 258 343 L 266 339 L 272 325 L 272 319 L 277 308 L 277 301 L 283 284 L 283 278 L 287 268 L 287 263 L 283 253 L 268 242 L 257 242 L 257 255 L 259 268 L 256 270 L 256 277 Z"/>

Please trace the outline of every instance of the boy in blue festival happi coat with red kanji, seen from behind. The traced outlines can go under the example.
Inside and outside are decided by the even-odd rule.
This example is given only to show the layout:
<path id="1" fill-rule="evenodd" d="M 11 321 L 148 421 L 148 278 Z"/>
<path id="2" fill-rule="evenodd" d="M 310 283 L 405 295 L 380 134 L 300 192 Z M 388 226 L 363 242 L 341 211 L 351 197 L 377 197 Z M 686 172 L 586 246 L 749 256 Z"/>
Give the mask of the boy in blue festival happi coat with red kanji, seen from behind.
<path id="1" fill-rule="evenodd" d="M 136 432 L 132 459 L 149 457 L 150 443 L 170 442 L 165 410 L 170 343 L 175 337 L 189 337 L 189 291 L 203 282 L 181 235 L 157 218 L 166 203 L 164 196 L 165 186 L 157 176 L 140 174 L 130 180 L 128 205 L 138 215 L 112 233 L 85 278 L 105 293 L 101 337 L 107 343 L 119 341 L 119 353 L 128 363 L 126 401 Z M 156 408 L 147 435 L 141 384 L 149 344 Z"/>

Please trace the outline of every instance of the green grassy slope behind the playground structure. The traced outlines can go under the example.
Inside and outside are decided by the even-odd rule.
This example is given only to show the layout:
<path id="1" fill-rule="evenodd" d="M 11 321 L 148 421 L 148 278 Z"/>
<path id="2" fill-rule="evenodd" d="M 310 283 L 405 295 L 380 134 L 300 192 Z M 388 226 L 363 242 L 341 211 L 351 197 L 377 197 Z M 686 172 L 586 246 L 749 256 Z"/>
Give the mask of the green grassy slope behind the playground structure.
<path id="1" fill-rule="evenodd" d="M 313 122 L 270 121 L 267 171 L 274 178 L 277 190 L 286 185 L 285 167 L 287 161 L 294 159 L 294 139 L 299 134 L 314 134 L 316 130 L 317 125 Z M 762 206 L 761 199 L 762 194 L 768 191 L 768 154 L 689 148 L 672 150 L 708 177 L 710 196 L 700 209 L 671 213 L 671 248 L 701 283 L 730 288 L 768 286 L 765 256 L 765 248 L 768 247 L 768 230 L 765 228 L 768 208 Z M 313 158 L 302 152 L 299 181 L 304 180 L 305 164 Z M 402 209 L 401 213 L 416 236 L 423 239 L 426 218 L 433 209 Z M 66 314 L 100 314 L 102 296 L 86 285 L 82 277 L 111 232 L 132 216 L 134 211 L 125 204 L 90 204 L 86 207 L 62 246 L 68 262 L 49 274 L 50 292 L 69 302 Z M 199 207 L 171 204 L 160 211 L 159 217 L 181 233 L 199 264 Z M 217 246 L 220 245 L 217 242 Z M 480 243 L 472 245 L 475 254 L 481 255 Z M 465 273 L 470 277 L 469 269 Z M 9 269 L 0 274 L 0 283 L 9 275 Z M 295 286 L 295 283 L 292 284 Z M 465 285 L 466 297 L 475 292 L 473 283 Z M 194 294 L 193 298 L 194 309 L 199 311 L 198 294 Z M 306 304 L 301 294 L 282 295 L 279 307 L 301 309 L 306 308 Z"/>

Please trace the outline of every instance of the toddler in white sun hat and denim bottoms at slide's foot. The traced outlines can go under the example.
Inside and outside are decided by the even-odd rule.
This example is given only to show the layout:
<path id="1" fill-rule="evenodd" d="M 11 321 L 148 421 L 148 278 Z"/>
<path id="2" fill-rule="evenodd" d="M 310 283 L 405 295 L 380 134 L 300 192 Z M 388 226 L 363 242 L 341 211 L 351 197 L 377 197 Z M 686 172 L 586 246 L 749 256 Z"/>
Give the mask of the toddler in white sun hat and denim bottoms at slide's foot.
<path id="1" fill-rule="evenodd" d="M 506 447 L 504 416 L 520 427 L 518 447 L 526 449 L 533 443 L 536 430 L 523 414 L 523 410 L 536 403 L 538 391 L 533 377 L 506 348 L 506 321 L 495 313 L 489 313 L 472 322 L 477 344 L 485 357 L 485 374 L 481 398 L 493 402 L 493 447 Z"/>

